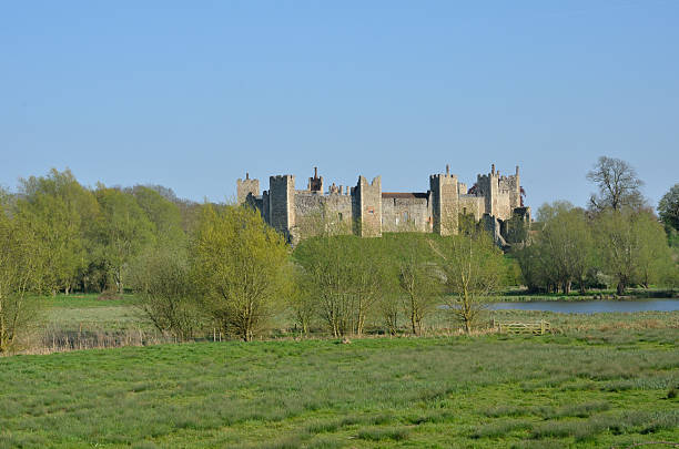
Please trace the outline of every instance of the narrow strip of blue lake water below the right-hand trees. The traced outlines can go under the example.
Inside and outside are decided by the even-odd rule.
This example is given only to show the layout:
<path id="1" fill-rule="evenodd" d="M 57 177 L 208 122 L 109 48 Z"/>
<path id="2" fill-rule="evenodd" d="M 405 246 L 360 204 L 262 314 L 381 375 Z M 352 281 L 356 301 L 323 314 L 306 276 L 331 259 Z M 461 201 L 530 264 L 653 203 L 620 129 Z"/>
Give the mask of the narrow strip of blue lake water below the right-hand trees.
<path id="1" fill-rule="evenodd" d="M 636 300 L 531 300 L 526 303 L 493 303 L 493 310 L 519 309 L 558 312 L 561 314 L 597 314 L 600 312 L 672 312 L 679 310 L 679 299 Z"/>

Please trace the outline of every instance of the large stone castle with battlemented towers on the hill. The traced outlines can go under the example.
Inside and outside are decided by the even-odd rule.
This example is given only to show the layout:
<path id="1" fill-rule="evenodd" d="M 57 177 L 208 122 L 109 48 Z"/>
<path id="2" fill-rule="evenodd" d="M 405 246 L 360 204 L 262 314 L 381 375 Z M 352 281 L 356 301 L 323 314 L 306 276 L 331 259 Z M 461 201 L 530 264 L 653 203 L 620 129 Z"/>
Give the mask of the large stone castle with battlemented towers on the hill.
<path id="1" fill-rule="evenodd" d="M 446 173 L 429 176 L 427 192 L 383 192 L 381 176 L 369 183 L 358 176 L 354 187 L 333 183 L 326 190 L 314 169 L 306 190 L 295 188 L 294 175 L 277 175 L 268 178 L 268 191 L 260 194 L 260 181 L 246 174 L 236 181 L 236 195 L 239 204 L 259 210 L 291 243 L 313 235 L 307 224 L 318 216 L 362 237 L 379 237 L 383 232 L 452 235 L 458 233 L 460 217 L 473 216 L 500 246 L 506 244 L 510 218 L 530 221 L 530 208 L 523 204 L 518 166 L 515 174 L 505 176 L 493 165 L 490 173 L 477 175 L 468 190 L 446 166 Z"/>

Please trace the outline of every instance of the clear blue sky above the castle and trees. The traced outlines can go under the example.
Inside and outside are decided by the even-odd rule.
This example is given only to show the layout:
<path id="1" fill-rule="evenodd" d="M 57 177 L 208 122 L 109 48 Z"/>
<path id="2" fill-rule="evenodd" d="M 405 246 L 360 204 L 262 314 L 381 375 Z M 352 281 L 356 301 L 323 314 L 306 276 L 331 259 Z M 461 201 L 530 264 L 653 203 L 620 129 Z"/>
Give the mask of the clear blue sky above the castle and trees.
<path id="1" fill-rule="evenodd" d="M 657 204 L 679 182 L 679 1 L 7 1 L 0 184 L 70 167 L 222 201 L 521 166 L 585 204 L 599 155 Z"/>

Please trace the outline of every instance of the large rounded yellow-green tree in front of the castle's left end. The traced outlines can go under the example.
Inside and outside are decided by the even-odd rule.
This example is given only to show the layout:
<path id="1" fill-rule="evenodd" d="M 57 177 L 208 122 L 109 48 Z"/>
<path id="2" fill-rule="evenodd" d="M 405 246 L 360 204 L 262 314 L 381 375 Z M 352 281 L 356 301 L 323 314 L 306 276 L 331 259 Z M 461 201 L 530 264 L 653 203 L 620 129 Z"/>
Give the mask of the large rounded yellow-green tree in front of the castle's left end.
<path id="1" fill-rule="evenodd" d="M 192 277 L 206 309 L 245 341 L 283 308 L 291 288 L 283 237 L 250 207 L 203 206 L 192 245 Z"/>

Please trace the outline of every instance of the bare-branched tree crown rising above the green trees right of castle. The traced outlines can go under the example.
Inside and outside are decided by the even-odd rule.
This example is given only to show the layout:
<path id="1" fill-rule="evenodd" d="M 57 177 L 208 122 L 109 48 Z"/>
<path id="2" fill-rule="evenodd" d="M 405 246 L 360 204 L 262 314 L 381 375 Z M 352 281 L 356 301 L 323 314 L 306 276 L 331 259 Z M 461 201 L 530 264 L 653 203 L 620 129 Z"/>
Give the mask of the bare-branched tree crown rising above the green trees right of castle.
<path id="1" fill-rule="evenodd" d="M 594 169 L 587 173 L 587 180 L 596 183 L 598 194 L 592 194 L 589 203 L 594 211 L 621 211 L 624 207 L 639 210 L 646 201 L 639 188 L 643 182 L 637 176 L 636 170 L 627 162 L 601 156 Z"/>

